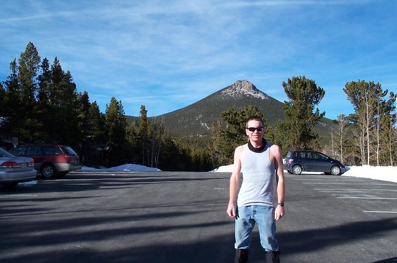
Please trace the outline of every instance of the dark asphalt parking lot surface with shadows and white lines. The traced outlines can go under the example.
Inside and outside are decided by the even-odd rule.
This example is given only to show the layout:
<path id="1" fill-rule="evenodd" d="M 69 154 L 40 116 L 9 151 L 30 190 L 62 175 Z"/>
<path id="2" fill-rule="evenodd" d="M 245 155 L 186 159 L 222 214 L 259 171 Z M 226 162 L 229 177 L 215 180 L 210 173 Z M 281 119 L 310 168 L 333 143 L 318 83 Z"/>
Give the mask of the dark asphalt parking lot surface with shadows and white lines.
<path id="1" fill-rule="evenodd" d="M 229 263 L 228 173 L 72 172 L 0 188 L 0 262 Z M 281 261 L 397 262 L 397 183 L 286 175 Z M 250 262 L 264 262 L 255 231 Z"/>

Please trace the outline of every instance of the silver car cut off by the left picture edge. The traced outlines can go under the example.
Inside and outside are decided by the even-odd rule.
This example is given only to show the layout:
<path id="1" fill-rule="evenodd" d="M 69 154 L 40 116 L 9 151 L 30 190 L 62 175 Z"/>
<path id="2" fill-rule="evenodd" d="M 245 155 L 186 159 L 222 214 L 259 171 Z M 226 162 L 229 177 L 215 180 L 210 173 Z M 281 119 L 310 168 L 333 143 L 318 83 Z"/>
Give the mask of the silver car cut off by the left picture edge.
<path id="1" fill-rule="evenodd" d="M 15 157 L 0 148 L 0 184 L 13 188 L 20 182 L 36 178 L 34 161 L 28 157 Z"/>

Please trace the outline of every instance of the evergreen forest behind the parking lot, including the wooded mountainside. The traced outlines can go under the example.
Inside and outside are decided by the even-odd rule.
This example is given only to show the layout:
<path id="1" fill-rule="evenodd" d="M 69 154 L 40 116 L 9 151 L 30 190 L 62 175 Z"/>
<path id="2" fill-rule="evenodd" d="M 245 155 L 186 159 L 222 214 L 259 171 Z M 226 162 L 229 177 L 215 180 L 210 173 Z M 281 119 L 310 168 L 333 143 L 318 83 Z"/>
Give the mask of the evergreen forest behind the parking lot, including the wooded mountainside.
<path id="1" fill-rule="evenodd" d="M 122 100 L 114 97 L 101 112 L 86 91 L 77 91 L 58 58 L 41 59 L 31 42 L 9 70 L 0 82 L 0 147 L 7 150 L 14 137 L 19 144 L 58 141 L 91 167 L 134 163 L 164 171 L 209 171 L 233 162 L 234 149 L 247 142 L 246 118 L 259 115 L 265 120 L 265 139 L 279 145 L 284 156 L 288 150 L 314 149 L 346 165 L 396 165 L 396 95 L 374 81 L 347 82 L 343 91 L 354 112 L 333 121 L 325 121 L 325 112 L 316 108 L 326 91 L 305 76 L 282 83 L 288 97 L 284 103 L 271 98 L 270 105 L 219 104 L 209 96 L 194 104 L 195 110 L 147 117 L 145 105 L 139 116 L 126 116 Z M 264 114 L 272 108 L 275 114 Z M 207 118 L 205 129 L 194 121 L 198 114 Z M 187 131 L 178 127 L 181 118 L 196 135 L 181 132 Z"/>

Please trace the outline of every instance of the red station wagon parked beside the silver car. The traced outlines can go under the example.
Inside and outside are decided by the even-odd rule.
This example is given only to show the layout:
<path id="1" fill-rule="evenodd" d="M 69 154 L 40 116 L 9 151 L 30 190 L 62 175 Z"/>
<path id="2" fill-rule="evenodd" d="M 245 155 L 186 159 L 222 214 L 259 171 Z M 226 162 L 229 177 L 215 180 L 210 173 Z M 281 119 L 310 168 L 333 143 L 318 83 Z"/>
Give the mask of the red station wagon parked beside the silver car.
<path id="1" fill-rule="evenodd" d="M 81 169 L 80 158 L 66 145 L 32 143 L 9 151 L 14 156 L 34 159 L 34 168 L 44 178 L 63 177 L 69 171 Z"/>

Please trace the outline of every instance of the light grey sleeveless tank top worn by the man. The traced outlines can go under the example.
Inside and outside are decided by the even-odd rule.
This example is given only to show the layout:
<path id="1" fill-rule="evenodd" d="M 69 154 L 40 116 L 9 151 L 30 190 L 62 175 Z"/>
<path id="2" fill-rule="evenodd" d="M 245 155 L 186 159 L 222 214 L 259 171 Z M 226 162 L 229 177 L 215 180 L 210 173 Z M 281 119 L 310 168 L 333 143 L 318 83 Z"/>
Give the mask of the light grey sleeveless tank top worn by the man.
<path id="1" fill-rule="evenodd" d="M 241 163 L 243 183 L 237 197 L 237 206 L 274 207 L 273 183 L 275 166 L 270 162 L 269 149 L 266 143 L 262 153 L 254 153 L 244 145 L 244 158 Z"/>

